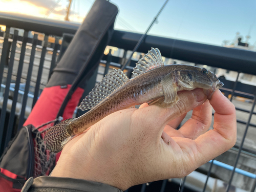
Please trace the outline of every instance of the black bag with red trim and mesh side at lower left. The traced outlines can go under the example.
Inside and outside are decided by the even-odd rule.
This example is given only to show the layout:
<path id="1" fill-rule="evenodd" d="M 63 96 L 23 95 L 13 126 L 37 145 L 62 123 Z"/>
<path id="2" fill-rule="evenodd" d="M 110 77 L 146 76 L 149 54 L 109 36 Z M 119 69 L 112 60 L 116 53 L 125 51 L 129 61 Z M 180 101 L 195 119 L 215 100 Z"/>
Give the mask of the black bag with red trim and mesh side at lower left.
<path id="1" fill-rule="evenodd" d="M 22 127 L 0 158 L 0 191 L 19 192 L 30 177 L 49 175 L 55 155 L 46 151 L 42 136 L 33 125 Z"/>

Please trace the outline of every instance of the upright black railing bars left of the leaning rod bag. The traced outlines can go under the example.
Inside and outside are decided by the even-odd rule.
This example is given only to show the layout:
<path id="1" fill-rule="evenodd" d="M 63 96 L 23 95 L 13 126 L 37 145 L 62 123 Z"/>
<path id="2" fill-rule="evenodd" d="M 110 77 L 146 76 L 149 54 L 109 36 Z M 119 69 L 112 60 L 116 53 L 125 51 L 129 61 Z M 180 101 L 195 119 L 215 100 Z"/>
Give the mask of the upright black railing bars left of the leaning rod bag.
<path id="1" fill-rule="evenodd" d="M 7 26 L 2 38 L 3 43 L 2 47 L 0 47 L 2 48 L 2 52 L 0 52 L 0 84 L 3 89 L 1 92 L 3 94 L 3 102 L 0 118 L 1 153 L 7 146 L 11 137 L 22 127 L 31 108 L 33 108 L 37 101 L 38 95 L 42 91 L 41 89 L 45 87 L 46 82 L 44 84 L 41 83 L 43 70 L 48 70 L 47 75 L 49 76 L 56 65 L 57 50 L 60 47 L 58 38 L 52 43 L 53 45 L 49 45 L 47 35 L 45 35 L 44 41 L 38 40 L 37 34 L 34 34 L 33 38 L 29 38 L 28 35 L 29 31 L 27 30 L 24 31 L 23 37 L 18 36 L 17 30 L 14 30 L 14 34 L 11 34 L 10 27 Z M 16 50 L 17 39 L 22 40 L 19 41 L 19 43 L 22 44 L 20 51 Z M 10 44 L 12 45 L 11 49 Z M 49 47 L 53 47 L 53 49 Z M 10 50 L 11 54 L 9 56 Z M 52 51 L 51 59 L 46 58 L 47 51 Z M 19 58 L 17 57 L 18 54 Z M 29 61 L 25 60 L 25 57 L 29 57 Z M 35 58 L 39 59 L 39 63 L 35 63 Z M 50 66 L 44 66 L 46 60 Z M 34 78 L 33 82 L 32 76 Z M 49 79 L 48 76 L 45 78 Z M 2 84 L 3 80 L 5 82 Z M 22 80 L 25 83 L 25 87 L 24 90 L 21 91 L 20 82 Z M 11 82 L 15 82 L 15 88 L 10 99 L 9 91 Z M 18 103 L 18 98 L 20 103 Z M 28 99 L 30 99 L 30 101 L 28 101 Z M 8 108 L 8 105 L 11 105 L 11 107 Z M 7 112 L 8 109 L 10 112 Z M 14 121 L 14 119 L 16 119 L 16 121 Z"/>

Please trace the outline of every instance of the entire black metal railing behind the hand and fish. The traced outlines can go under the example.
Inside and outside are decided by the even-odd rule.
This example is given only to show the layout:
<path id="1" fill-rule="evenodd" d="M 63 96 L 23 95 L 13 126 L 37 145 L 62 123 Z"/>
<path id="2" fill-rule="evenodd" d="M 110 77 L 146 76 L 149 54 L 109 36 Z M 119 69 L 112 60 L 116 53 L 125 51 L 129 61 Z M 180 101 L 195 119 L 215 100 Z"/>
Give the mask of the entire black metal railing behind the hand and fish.
<path id="1" fill-rule="evenodd" d="M 74 34 L 79 25 L 70 24 L 65 22 L 57 22 L 48 19 L 41 19 L 36 17 L 26 17 L 20 15 L 10 15 L 6 13 L 0 13 L 0 25 L 6 25 L 5 33 L 0 33 L 3 35 L 2 45 L 0 43 L 0 84 L 3 85 L 3 102 L 1 109 L 1 119 L 0 119 L 0 144 L 1 150 L 3 150 L 4 146 L 7 145 L 13 134 L 20 129 L 24 120 L 26 119 L 26 109 L 28 105 L 32 108 L 35 104 L 37 97 L 40 94 L 40 88 L 45 86 L 44 83 L 41 83 L 42 77 L 46 76 L 49 79 L 51 72 L 56 65 L 56 57 L 58 54 L 59 44 L 58 40 L 62 33 L 71 33 Z M 10 28 L 15 27 L 18 29 L 24 29 L 24 35 L 18 36 L 18 32 L 14 31 L 14 34 L 10 33 Z M 37 34 L 33 35 L 33 38 L 29 38 L 30 31 L 36 31 L 39 33 L 45 34 L 44 41 L 39 41 Z M 31 35 L 31 34 L 30 34 Z M 52 45 L 48 44 L 48 36 L 57 36 Z M 119 57 L 115 57 L 111 54 L 111 50 L 108 55 L 105 55 L 102 58 L 101 66 L 103 66 L 103 70 L 99 71 L 100 75 L 104 75 L 108 72 L 110 67 L 118 67 L 121 68 L 125 60 L 128 58 L 127 52 L 129 50 L 133 50 L 138 40 L 140 39 L 142 34 L 124 32 L 124 31 L 115 31 L 113 38 L 109 46 L 114 46 L 119 49 L 123 49 L 123 55 Z M 17 41 L 22 41 L 21 50 L 17 51 L 16 43 Z M 38 46 L 38 42 L 39 45 Z M 32 44 L 31 44 L 32 43 Z M 11 44 L 11 47 L 10 47 Z M 51 48 L 49 48 L 51 47 Z M 234 181 L 234 174 L 238 173 L 240 175 L 236 176 L 236 179 L 245 179 L 247 180 L 247 188 L 244 189 L 249 191 L 255 191 L 256 187 L 256 168 L 253 171 L 248 171 L 248 169 L 238 169 L 239 159 L 244 156 L 250 156 L 253 161 L 256 161 L 256 147 L 248 148 L 245 146 L 245 140 L 248 133 L 248 130 L 251 130 L 256 135 L 256 124 L 251 122 L 253 119 L 253 115 L 256 114 L 254 112 L 255 105 L 255 94 L 256 87 L 254 85 L 245 84 L 239 81 L 239 75 L 241 73 L 247 73 L 256 75 L 256 52 L 239 50 L 239 49 L 231 49 L 224 48 L 218 46 L 211 46 L 205 44 L 198 44 L 195 42 L 182 41 L 171 38 L 157 37 L 148 35 L 141 46 L 138 49 L 138 52 L 146 53 L 150 50 L 151 47 L 157 47 L 161 50 L 162 56 L 166 58 L 178 59 L 186 62 L 195 63 L 195 65 L 207 65 L 215 68 L 222 68 L 226 70 L 237 71 L 236 81 L 223 80 L 224 88 L 221 91 L 230 98 L 231 101 L 234 101 L 234 97 L 240 96 L 243 98 L 247 98 L 248 101 L 251 101 L 250 109 L 242 108 L 241 106 L 236 106 L 237 111 L 243 112 L 246 114 L 247 120 L 240 119 L 238 116 L 238 125 L 242 127 L 244 133 L 241 134 L 241 142 L 236 144 L 236 147 L 233 150 L 227 152 L 229 155 L 234 154 L 235 158 L 228 160 L 226 162 L 220 162 L 223 160 L 223 156 L 212 160 L 206 165 L 200 167 L 198 169 L 199 172 L 206 172 L 205 177 L 202 181 L 203 186 L 201 187 L 202 191 L 207 190 L 207 183 L 212 180 L 212 174 L 218 175 L 219 173 L 213 170 L 213 168 L 218 169 L 218 167 L 222 167 L 226 169 L 227 176 L 225 177 L 224 185 L 225 190 L 228 191 L 230 186 L 237 186 Z M 2 50 L 1 50 L 2 48 Z M 11 49 L 10 49 L 11 48 Z M 38 50 L 41 50 L 38 52 Z M 11 50 L 11 51 L 10 51 Z M 30 51 L 30 54 L 28 51 Z M 47 50 L 51 50 L 52 53 L 51 59 L 46 59 Z M 9 54 L 10 53 L 10 54 Z M 19 53 L 19 59 L 15 57 L 15 54 Z M 25 57 L 29 57 L 29 62 L 25 62 Z M 15 64 L 15 58 L 18 63 Z M 38 65 L 34 65 L 34 59 L 40 59 Z M 48 61 L 49 66 L 45 66 L 45 62 Z M 130 66 L 125 68 L 126 73 L 129 77 L 131 77 L 131 72 L 133 67 L 135 66 L 136 61 L 132 60 L 130 62 Z M 24 73 L 24 64 L 26 64 L 26 72 Z M 13 67 L 16 65 L 16 72 L 14 73 Z M 34 68 L 37 68 L 36 73 L 33 73 Z M 43 74 L 43 69 L 47 69 L 47 74 Z M 34 76 L 34 83 L 31 86 L 32 76 Z M 19 97 L 19 85 L 22 79 L 26 79 L 25 89 L 23 91 L 23 98 L 20 101 L 19 112 L 17 111 L 17 100 Z M 12 98 L 9 97 L 10 83 L 15 82 L 15 89 Z M 30 104 L 28 104 L 29 94 L 33 93 L 33 99 L 31 99 Z M 11 108 L 8 112 L 8 102 L 11 100 Z M 29 110 L 28 110 L 29 111 Z M 7 117 L 8 116 L 8 117 Z M 17 119 L 17 122 L 14 121 Z M 225 155 L 225 154 L 224 154 Z M 223 160 L 224 161 L 224 160 Z M 230 168 L 231 165 L 231 168 Z M 243 166 L 242 166 L 243 167 Z M 253 172 L 253 173 L 251 173 Z M 170 187 L 174 186 L 174 183 L 181 183 L 180 191 L 188 191 L 188 187 L 186 183 L 189 182 L 189 179 L 186 177 L 180 182 L 180 180 L 173 179 L 172 182 L 168 182 L 168 180 L 152 182 L 148 184 L 143 184 L 139 186 L 135 186 L 129 191 L 169 191 Z M 154 187 L 153 187 L 154 186 Z M 233 186 L 232 186 L 233 187 Z M 157 188 L 157 189 L 156 189 Z M 196 191 L 196 189 L 194 189 Z M 178 190 L 177 190 L 178 191 Z M 190 188 L 189 191 L 193 191 L 193 188 Z"/>

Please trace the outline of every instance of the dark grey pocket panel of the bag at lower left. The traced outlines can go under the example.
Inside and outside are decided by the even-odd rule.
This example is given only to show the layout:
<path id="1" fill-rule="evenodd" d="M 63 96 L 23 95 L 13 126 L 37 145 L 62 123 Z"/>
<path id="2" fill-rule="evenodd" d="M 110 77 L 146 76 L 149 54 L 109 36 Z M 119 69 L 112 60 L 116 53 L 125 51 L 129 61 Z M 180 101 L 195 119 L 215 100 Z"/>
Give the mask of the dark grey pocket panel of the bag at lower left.
<path id="1" fill-rule="evenodd" d="M 0 159 L 1 168 L 24 178 L 33 176 L 34 148 L 32 129 L 32 125 L 24 126 L 20 129 Z"/>

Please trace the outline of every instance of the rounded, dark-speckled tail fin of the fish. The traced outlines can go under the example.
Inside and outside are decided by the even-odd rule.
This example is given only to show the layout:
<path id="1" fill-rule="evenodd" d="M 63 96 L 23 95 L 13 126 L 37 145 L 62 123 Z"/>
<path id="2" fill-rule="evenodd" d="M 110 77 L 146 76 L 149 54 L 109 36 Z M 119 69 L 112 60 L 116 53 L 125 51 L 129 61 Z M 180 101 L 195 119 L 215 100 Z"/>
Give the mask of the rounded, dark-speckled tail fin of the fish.
<path id="1" fill-rule="evenodd" d="M 45 135 L 46 148 L 53 153 L 58 153 L 74 137 L 67 127 L 74 119 L 66 119 L 51 127 Z"/>

